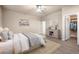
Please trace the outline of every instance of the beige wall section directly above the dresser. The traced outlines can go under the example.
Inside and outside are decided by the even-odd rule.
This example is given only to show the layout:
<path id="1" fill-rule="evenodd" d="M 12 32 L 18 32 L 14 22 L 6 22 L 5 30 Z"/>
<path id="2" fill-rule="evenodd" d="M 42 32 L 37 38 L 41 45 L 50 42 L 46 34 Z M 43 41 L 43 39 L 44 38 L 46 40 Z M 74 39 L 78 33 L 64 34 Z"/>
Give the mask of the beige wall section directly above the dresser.
<path id="1" fill-rule="evenodd" d="M 46 16 L 47 20 L 47 28 L 50 26 L 53 26 L 53 29 L 55 28 L 55 25 L 58 25 L 58 29 L 62 29 L 62 11 L 58 10 L 56 12 L 53 12 Z"/>

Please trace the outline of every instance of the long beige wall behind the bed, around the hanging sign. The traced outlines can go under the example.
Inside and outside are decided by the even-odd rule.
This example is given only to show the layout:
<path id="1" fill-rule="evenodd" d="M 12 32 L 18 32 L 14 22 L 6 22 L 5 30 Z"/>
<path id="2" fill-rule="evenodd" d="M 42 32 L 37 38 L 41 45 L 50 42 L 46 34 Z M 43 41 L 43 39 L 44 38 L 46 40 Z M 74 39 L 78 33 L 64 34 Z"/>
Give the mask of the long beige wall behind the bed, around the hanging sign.
<path id="1" fill-rule="evenodd" d="M 19 26 L 20 19 L 28 19 L 29 26 Z M 41 21 L 36 16 L 17 13 L 11 10 L 3 10 L 3 27 L 8 27 L 14 32 L 35 32 L 41 33 Z"/>

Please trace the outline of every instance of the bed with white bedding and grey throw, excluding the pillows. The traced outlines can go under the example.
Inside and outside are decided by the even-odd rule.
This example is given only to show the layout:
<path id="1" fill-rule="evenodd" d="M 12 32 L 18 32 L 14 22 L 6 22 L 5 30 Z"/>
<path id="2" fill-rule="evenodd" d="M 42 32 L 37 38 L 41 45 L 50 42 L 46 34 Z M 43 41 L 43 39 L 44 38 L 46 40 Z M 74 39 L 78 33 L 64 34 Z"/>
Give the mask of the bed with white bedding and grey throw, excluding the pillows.
<path id="1" fill-rule="evenodd" d="M 17 54 L 45 46 L 41 35 L 34 33 L 17 33 L 9 40 L 0 42 L 0 54 Z"/>

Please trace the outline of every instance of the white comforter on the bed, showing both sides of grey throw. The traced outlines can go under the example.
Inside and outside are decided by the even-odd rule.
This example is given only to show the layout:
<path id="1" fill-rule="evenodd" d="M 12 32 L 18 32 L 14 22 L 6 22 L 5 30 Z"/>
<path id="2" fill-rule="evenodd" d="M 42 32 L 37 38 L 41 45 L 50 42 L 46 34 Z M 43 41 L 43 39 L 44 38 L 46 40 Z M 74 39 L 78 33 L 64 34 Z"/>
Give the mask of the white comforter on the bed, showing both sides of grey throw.
<path id="1" fill-rule="evenodd" d="M 35 35 L 40 38 L 41 44 L 45 45 L 43 38 L 38 34 Z M 11 40 L 0 42 L 0 53 L 2 54 L 20 53 L 28 51 L 29 49 L 28 38 L 21 33 L 14 34 L 14 38 Z"/>

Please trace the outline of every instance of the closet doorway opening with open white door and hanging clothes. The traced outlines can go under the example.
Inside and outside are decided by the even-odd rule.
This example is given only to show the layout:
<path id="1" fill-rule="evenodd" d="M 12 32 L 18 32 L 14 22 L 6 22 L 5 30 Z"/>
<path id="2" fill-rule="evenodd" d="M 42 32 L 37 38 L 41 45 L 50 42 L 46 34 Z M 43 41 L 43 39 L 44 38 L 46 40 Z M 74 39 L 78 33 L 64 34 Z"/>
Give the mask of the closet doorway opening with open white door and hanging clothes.
<path id="1" fill-rule="evenodd" d="M 77 42 L 77 15 L 68 15 L 65 19 L 65 39 Z"/>

